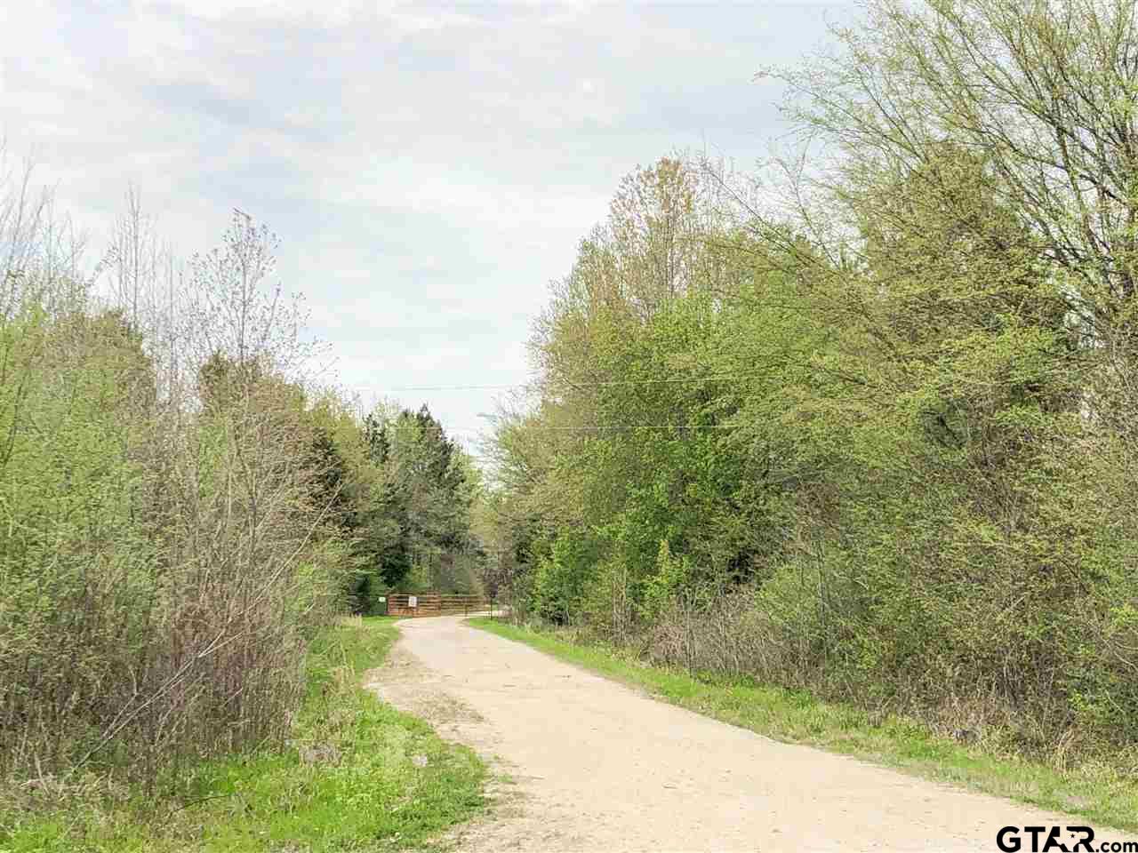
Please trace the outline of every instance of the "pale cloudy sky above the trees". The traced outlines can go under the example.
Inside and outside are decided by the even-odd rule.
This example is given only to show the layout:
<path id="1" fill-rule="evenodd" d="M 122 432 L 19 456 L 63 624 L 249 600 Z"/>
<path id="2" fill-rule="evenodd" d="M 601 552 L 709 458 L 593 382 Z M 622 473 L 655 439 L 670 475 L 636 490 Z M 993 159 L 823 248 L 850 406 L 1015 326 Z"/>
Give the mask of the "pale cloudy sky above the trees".
<path id="1" fill-rule="evenodd" d="M 183 255 L 234 207 L 281 241 L 329 379 L 470 441 L 530 375 L 551 281 L 621 176 L 747 169 L 785 133 L 765 65 L 842 2 L 0 3 L 0 135 L 98 249 L 137 187 Z M 328 361 L 328 359 L 325 359 Z"/>

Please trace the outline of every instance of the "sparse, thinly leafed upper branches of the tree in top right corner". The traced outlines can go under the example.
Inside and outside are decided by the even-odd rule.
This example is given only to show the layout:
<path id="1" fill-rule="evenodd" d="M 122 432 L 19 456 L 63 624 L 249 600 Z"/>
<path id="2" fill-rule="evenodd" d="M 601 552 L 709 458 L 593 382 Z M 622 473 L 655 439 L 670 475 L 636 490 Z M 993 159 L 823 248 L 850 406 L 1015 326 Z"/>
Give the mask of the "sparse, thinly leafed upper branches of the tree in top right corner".
<path id="1" fill-rule="evenodd" d="M 922 194 L 946 202 L 959 233 L 989 239 L 990 221 L 954 206 L 930 169 L 950 140 L 1019 218 L 1017 249 L 1047 263 L 1090 333 L 1107 334 L 1133 321 L 1136 16 L 1128 0 L 874 0 L 861 26 L 835 30 L 842 56 L 767 73 L 838 158 L 836 180 L 818 173 L 817 201 L 866 210 L 882 176 L 923 175 Z"/>

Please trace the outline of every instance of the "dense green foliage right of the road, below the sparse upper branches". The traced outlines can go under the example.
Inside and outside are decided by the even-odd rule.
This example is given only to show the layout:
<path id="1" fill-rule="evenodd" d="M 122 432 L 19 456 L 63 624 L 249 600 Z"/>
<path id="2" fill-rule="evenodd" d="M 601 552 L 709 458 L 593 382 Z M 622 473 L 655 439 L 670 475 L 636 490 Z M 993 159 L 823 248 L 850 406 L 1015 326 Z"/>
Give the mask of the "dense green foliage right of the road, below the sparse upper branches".
<path id="1" fill-rule="evenodd" d="M 621 185 L 535 325 L 533 408 L 498 424 L 514 613 L 1037 757 L 1129 755 L 1130 321 L 1088 318 L 999 155 L 892 154 L 800 188 L 825 232 L 813 208 L 741 227 L 679 160 Z"/>

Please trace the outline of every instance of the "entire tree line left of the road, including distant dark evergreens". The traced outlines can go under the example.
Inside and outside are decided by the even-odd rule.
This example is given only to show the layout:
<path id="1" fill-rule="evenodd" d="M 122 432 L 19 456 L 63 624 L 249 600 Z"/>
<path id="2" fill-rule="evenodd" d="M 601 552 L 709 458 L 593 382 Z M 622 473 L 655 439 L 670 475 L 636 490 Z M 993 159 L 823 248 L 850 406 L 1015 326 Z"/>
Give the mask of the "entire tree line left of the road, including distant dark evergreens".
<path id="1" fill-rule="evenodd" d="M 2 189 L 0 778 L 281 743 L 332 619 L 477 586 L 470 456 L 314 381 L 247 215 L 182 263 L 131 192 L 89 264 L 28 173 Z"/>

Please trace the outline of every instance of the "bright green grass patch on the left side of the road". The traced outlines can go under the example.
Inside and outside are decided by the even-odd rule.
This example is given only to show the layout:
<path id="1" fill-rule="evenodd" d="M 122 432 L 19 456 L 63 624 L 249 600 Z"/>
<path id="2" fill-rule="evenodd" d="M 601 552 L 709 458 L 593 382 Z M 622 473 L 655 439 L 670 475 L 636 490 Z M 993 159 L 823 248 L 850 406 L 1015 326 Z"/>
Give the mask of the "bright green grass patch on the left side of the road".
<path id="1" fill-rule="evenodd" d="M 287 748 L 211 762 L 141 792 L 34 811 L 0 801 L 0 853 L 331 853 L 422 848 L 485 808 L 486 768 L 465 747 L 361 685 L 394 619 L 346 621 L 314 644 Z M 307 756 L 305 761 L 302 756 Z M 312 760 L 313 756 L 316 760 Z"/>

